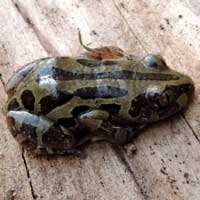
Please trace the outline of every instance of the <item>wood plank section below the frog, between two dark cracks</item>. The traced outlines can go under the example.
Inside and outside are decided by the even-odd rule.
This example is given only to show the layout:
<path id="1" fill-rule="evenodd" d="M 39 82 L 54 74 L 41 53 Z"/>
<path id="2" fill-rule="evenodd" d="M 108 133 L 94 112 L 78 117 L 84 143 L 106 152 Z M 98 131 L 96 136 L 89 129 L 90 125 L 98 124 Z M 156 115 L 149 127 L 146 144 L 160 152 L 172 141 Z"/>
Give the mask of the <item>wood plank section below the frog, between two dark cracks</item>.
<path id="1" fill-rule="evenodd" d="M 110 146 L 85 146 L 87 158 L 47 160 L 26 155 L 38 199 L 143 199 L 132 174 Z"/>

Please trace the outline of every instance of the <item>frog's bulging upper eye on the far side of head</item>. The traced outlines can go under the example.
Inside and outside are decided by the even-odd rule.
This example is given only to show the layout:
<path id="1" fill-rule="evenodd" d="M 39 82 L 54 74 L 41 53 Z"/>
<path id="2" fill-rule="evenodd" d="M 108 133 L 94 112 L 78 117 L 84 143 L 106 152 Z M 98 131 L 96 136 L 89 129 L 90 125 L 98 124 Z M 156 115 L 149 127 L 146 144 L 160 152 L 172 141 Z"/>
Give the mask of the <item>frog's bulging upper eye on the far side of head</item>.
<path id="1" fill-rule="evenodd" d="M 166 69 L 167 64 L 165 63 L 164 59 L 160 55 L 148 55 L 144 58 L 144 64 L 146 67 L 151 69 Z"/>

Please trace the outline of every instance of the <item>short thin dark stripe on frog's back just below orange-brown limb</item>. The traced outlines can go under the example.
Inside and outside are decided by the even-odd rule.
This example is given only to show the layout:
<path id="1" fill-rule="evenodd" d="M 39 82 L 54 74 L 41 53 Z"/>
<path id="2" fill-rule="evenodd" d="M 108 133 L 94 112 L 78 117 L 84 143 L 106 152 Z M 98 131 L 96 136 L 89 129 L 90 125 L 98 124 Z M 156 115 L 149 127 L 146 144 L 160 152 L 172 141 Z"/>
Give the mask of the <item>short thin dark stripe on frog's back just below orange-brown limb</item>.
<path id="1" fill-rule="evenodd" d="M 112 61 L 112 60 L 86 60 L 86 59 L 77 59 L 76 60 L 79 64 L 83 65 L 83 66 L 87 66 L 87 67 L 100 67 L 103 65 L 116 65 L 117 62 L 116 61 Z"/>

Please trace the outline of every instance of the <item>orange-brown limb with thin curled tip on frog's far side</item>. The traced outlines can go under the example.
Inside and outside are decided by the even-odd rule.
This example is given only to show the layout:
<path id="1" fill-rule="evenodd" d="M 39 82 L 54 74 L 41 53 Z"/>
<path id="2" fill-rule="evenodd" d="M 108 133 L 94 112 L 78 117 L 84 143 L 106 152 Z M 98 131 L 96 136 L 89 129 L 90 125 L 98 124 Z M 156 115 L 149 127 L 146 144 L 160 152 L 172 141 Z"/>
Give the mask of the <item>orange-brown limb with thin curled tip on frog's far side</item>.
<path id="1" fill-rule="evenodd" d="M 105 46 L 91 49 L 83 44 L 80 31 L 78 33 L 81 46 L 87 50 L 87 52 L 85 53 L 87 57 L 91 57 L 94 59 L 114 59 L 124 56 L 124 51 L 115 46 Z"/>

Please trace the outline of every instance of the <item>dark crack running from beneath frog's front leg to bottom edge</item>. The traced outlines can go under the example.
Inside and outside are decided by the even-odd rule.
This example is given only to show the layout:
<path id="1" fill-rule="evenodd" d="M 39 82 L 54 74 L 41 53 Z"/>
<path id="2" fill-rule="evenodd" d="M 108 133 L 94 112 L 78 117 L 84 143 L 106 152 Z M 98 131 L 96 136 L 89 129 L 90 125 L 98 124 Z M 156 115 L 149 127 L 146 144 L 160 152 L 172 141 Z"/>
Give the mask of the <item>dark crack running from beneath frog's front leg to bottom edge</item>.
<path id="1" fill-rule="evenodd" d="M 115 144 L 112 144 L 112 149 L 115 151 L 117 157 L 119 158 L 119 160 L 121 161 L 121 163 L 126 167 L 126 169 L 128 170 L 128 172 L 131 174 L 135 184 L 136 184 L 136 187 L 138 189 L 138 191 L 140 191 L 140 194 L 141 194 L 141 198 L 146 200 L 147 197 L 144 195 L 143 193 L 143 189 L 141 188 L 140 184 L 138 183 L 136 177 L 135 177 L 135 174 L 129 164 L 129 162 L 127 161 L 126 159 L 126 156 L 124 155 L 124 151 L 122 149 L 122 147 L 120 146 L 117 146 Z"/>

